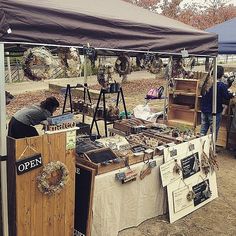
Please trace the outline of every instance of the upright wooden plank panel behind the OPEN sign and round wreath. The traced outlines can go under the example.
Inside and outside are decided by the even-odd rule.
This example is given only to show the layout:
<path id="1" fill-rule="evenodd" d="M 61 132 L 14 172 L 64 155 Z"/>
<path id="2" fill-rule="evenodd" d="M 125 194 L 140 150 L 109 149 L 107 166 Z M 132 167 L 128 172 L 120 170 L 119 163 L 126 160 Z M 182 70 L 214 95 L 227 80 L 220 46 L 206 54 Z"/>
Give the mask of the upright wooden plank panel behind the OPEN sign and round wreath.
<path id="1" fill-rule="evenodd" d="M 75 198 L 75 151 L 66 150 L 66 132 L 24 139 L 8 137 L 9 235 L 73 235 Z M 28 146 L 28 148 L 27 148 Z M 37 188 L 43 166 L 18 175 L 16 161 L 36 152 L 43 166 L 60 161 L 69 170 L 69 182 L 51 196 Z"/>

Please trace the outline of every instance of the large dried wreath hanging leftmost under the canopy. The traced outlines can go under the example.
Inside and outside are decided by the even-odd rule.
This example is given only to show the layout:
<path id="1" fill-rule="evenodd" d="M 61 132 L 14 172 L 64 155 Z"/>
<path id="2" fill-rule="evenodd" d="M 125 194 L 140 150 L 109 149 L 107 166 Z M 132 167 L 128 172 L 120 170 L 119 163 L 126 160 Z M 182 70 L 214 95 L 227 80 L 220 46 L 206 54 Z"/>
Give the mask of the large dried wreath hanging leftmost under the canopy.
<path id="1" fill-rule="evenodd" d="M 53 56 L 45 47 L 28 49 L 23 56 L 24 75 L 34 81 L 49 79 Z"/>

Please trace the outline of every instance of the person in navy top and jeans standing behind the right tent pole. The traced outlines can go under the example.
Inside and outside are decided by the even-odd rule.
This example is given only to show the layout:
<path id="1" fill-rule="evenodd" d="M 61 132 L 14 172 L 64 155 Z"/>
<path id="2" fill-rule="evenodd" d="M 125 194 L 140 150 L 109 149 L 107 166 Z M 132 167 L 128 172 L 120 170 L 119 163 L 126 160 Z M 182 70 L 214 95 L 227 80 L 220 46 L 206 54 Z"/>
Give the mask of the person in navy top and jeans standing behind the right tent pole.
<path id="1" fill-rule="evenodd" d="M 217 79 L 221 79 L 224 75 L 224 68 L 217 66 Z M 203 85 L 204 86 L 204 85 Z M 201 131 L 202 135 L 206 135 L 208 129 L 212 129 L 213 116 L 212 116 L 212 96 L 213 87 L 211 86 L 208 90 L 206 89 L 202 93 L 201 100 Z M 216 139 L 220 128 L 221 113 L 223 111 L 223 101 L 230 100 L 233 94 L 228 91 L 228 87 L 221 81 L 217 81 L 217 99 L 216 99 Z"/>

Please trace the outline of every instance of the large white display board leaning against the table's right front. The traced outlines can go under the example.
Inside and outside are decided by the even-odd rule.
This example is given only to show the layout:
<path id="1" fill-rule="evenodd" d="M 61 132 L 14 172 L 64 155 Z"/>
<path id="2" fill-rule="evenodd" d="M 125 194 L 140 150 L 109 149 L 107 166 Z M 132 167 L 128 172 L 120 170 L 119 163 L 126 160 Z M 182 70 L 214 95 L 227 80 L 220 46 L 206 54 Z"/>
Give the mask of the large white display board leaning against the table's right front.
<path id="1" fill-rule="evenodd" d="M 194 167 L 197 156 L 201 163 L 203 143 L 205 143 L 204 152 L 209 155 L 211 135 L 206 135 L 164 150 L 164 161 L 169 163 L 175 160 L 182 168 L 180 178 L 171 181 L 167 185 L 170 223 L 218 197 L 215 171 L 205 175 L 201 169 L 199 170 Z M 195 193 L 195 197 L 188 201 L 186 200 L 186 193 L 191 191 Z"/>

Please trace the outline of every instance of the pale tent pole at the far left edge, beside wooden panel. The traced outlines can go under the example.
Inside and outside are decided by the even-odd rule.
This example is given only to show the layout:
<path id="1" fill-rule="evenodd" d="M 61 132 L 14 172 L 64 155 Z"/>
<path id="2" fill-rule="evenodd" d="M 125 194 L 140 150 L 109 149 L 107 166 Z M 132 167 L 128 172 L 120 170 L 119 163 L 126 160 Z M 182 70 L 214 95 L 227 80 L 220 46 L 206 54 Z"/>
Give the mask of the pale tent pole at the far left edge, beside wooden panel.
<path id="1" fill-rule="evenodd" d="M 8 236 L 8 201 L 7 201 L 7 144 L 6 144 L 6 98 L 5 98 L 5 64 L 4 44 L 0 43 L 0 156 L 1 156 L 1 198 L 2 230 Z"/>

